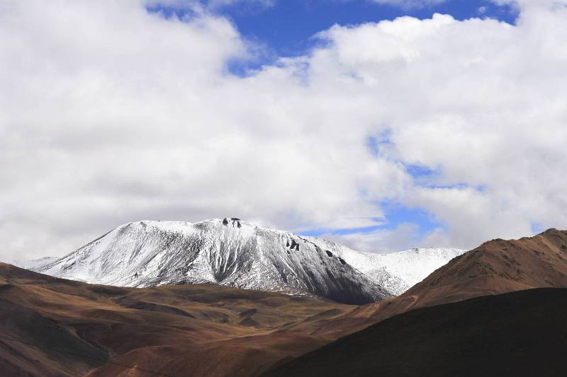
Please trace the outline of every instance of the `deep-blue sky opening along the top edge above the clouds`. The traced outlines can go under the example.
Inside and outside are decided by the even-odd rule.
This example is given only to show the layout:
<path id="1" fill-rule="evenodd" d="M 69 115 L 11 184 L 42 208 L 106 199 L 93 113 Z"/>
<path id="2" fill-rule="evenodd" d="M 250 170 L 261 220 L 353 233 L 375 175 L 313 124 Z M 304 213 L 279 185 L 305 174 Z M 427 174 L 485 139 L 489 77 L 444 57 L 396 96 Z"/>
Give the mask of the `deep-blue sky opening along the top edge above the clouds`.
<path id="1" fill-rule="evenodd" d="M 201 3 L 206 4 L 206 1 Z M 450 14 L 458 20 L 488 17 L 507 23 L 514 23 L 517 17 L 515 8 L 497 6 L 488 0 L 448 0 L 443 4 L 410 9 L 376 4 L 370 0 L 275 0 L 274 6 L 254 4 L 245 6 L 235 1 L 210 10 L 230 19 L 247 40 L 265 47 L 256 59 L 228 62 L 227 70 L 236 76 L 248 76 L 250 71 L 273 64 L 279 57 L 308 54 L 322 43 L 314 36 L 333 25 L 376 23 L 400 16 L 425 19 L 431 18 L 434 13 Z M 195 15 L 189 7 L 154 5 L 146 9 L 165 18 L 176 16 L 181 20 Z"/>

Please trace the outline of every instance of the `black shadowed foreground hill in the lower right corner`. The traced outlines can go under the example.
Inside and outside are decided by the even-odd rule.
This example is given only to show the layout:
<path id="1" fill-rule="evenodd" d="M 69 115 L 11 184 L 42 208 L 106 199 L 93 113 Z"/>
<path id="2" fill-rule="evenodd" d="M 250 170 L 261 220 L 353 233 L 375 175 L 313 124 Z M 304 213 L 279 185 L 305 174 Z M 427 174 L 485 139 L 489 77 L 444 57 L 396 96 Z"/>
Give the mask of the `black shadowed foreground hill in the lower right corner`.
<path id="1" fill-rule="evenodd" d="M 565 376 L 567 289 L 396 315 L 266 376 Z"/>

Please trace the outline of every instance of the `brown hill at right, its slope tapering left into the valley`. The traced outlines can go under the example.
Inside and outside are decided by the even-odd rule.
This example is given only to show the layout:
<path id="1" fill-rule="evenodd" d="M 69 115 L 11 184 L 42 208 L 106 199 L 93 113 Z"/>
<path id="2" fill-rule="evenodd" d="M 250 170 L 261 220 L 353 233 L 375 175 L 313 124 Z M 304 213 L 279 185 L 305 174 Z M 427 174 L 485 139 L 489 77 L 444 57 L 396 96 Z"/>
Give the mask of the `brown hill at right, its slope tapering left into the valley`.
<path id="1" fill-rule="evenodd" d="M 567 231 L 519 240 L 490 240 L 451 260 L 405 294 L 294 331 L 345 334 L 417 308 L 530 288 L 567 288 Z"/>

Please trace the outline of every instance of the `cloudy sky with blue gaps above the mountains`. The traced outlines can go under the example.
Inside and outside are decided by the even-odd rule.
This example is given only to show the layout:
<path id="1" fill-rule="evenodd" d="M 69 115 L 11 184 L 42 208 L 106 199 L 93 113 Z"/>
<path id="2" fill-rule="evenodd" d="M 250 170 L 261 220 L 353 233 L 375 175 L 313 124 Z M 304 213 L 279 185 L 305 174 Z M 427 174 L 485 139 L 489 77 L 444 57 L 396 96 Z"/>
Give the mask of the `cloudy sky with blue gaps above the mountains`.
<path id="1" fill-rule="evenodd" d="M 0 260 L 145 219 L 567 228 L 565 35 L 565 0 L 0 0 Z"/>

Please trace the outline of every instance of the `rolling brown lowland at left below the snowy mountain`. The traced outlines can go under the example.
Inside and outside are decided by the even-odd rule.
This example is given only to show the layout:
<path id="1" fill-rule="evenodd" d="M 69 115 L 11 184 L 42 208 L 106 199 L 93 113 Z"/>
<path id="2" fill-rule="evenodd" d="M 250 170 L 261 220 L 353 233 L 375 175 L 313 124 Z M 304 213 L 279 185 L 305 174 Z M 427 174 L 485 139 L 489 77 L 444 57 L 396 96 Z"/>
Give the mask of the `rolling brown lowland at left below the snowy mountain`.
<path id="1" fill-rule="evenodd" d="M 335 340 L 278 332 L 352 310 L 215 285 L 126 289 L 0 263 L 6 376 L 252 376 Z"/>

